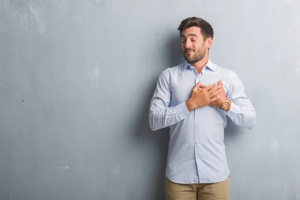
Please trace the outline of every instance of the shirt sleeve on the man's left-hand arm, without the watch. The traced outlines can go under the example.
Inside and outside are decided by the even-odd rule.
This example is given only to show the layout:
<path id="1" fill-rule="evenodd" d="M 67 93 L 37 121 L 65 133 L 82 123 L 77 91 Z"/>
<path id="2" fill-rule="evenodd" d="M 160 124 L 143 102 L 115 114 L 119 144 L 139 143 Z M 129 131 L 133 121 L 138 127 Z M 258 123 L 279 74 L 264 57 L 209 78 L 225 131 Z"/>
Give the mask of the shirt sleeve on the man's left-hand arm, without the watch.
<path id="1" fill-rule="evenodd" d="M 152 131 L 176 124 L 190 113 L 186 108 L 185 101 L 174 107 L 169 107 L 170 102 L 170 74 L 165 69 L 158 78 L 150 101 L 148 123 Z"/>

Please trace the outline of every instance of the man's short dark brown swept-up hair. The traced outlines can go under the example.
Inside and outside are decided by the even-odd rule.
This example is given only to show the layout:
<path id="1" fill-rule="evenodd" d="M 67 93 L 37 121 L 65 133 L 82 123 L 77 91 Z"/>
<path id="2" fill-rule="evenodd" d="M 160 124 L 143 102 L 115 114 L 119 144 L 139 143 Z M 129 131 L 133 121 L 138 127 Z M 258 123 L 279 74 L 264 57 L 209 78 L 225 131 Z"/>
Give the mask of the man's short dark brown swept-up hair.
<path id="1" fill-rule="evenodd" d="M 211 39 L 213 39 L 213 28 L 211 27 L 211 25 L 204 19 L 195 16 L 187 17 L 181 21 L 178 27 L 178 30 L 180 31 L 180 35 L 182 30 L 186 28 L 190 28 L 192 26 L 197 26 L 200 28 L 204 40 L 206 40 L 208 37 L 211 37 Z"/>

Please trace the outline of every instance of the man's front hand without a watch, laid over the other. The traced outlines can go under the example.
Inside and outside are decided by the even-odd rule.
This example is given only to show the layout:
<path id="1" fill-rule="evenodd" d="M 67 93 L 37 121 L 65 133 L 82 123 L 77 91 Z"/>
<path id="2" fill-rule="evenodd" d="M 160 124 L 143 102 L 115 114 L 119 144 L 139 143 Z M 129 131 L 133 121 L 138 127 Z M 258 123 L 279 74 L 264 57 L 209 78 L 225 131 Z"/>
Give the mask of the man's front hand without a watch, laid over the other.
<path id="1" fill-rule="evenodd" d="M 200 81 L 192 88 L 189 99 L 185 102 L 186 108 L 190 112 L 193 109 L 207 106 L 208 104 L 217 101 L 220 96 L 219 94 L 222 89 L 216 83 L 208 85 L 207 87 L 198 90 Z M 213 97 L 213 98 L 212 98 Z"/>

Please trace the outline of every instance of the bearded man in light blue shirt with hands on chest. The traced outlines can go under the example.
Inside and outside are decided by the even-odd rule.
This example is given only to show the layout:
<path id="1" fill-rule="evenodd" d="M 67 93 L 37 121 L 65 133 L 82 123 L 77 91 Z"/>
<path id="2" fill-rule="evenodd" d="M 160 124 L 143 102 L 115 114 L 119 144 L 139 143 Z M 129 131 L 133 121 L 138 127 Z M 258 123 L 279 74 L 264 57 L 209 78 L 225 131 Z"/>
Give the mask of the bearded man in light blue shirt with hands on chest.
<path id="1" fill-rule="evenodd" d="M 235 125 L 252 129 L 256 113 L 237 74 L 209 59 L 211 25 L 188 17 L 178 30 L 186 62 L 161 73 L 149 112 L 151 130 L 170 128 L 165 197 L 228 200 L 226 115 Z"/>

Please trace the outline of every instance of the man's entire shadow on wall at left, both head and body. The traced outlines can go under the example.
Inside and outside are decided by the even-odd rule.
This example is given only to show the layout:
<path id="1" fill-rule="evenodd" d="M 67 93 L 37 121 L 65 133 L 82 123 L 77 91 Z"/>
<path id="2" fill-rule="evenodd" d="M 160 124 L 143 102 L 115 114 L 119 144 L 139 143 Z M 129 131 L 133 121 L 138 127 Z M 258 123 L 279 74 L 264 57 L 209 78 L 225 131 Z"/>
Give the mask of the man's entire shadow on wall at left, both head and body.
<path id="1" fill-rule="evenodd" d="M 166 59 L 164 58 L 165 60 L 162 62 L 166 66 L 161 68 L 161 72 L 167 67 L 178 65 L 182 62 L 183 58 L 180 49 L 180 38 L 178 35 L 174 34 L 169 38 L 170 39 L 164 48 L 160 48 L 161 54 L 168 52 Z M 163 57 L 161 59 L 163 59 Z M 156 152 L 153 155 L 155 158 L 151 158 L 151 160 L 155 160 L 155 163 L 151 163 L 151 166 L 149 166 L 150 168 L 148 168 L 151 172 L 145 171 L 145 173 L 155 172 L 155 174 L 151 174 L 152 177 L 151 180 L 149 180 L 151 183 L 147 184 L 148 192 L 145 194 L 147 195 L 145 200 L 164 200 L 164 173 L 168 151 L 169 128 L 153 132 L 148 125 L 149 105 L 157 80 L 158 76 L 149 82 L 149 86 L 145 90 L 148 92 L 141 95 L 143 97 L 142 102 L 144 103 L 140 108 L 140 115 L 138 115 L 138 118 L 136 119 L 137 126 L 134 133 L 138 146 L 148 147 L 150 145 L 150 148 L 155 148 L 152 152 Z M 148 176 L 150 175 L 148 174 Z"/>

